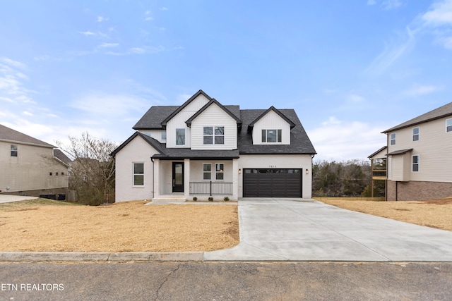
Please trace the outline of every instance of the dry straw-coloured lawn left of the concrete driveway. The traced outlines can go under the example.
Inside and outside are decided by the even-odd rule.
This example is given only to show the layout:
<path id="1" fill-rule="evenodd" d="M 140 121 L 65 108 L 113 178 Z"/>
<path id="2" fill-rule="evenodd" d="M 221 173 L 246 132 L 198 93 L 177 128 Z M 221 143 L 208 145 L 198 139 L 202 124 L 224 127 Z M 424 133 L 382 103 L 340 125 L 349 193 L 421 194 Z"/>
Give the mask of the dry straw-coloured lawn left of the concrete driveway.
<path id="1" fill-rule="evenodd" d="M 194 252 L 239 243 L 237 203 L 0 204 L 0 252 Z"/>

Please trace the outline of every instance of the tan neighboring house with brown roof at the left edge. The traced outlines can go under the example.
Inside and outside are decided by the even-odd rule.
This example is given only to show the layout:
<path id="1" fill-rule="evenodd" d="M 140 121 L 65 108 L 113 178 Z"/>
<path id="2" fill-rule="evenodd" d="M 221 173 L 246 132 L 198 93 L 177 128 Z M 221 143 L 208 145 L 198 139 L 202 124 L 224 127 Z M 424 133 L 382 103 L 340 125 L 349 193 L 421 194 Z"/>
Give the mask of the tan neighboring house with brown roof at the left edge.
<path id="1" fill-rule="evenodd" d="M 0 193 L 65 194 L 70 161 L 53 145 L 0 125 Z"/>

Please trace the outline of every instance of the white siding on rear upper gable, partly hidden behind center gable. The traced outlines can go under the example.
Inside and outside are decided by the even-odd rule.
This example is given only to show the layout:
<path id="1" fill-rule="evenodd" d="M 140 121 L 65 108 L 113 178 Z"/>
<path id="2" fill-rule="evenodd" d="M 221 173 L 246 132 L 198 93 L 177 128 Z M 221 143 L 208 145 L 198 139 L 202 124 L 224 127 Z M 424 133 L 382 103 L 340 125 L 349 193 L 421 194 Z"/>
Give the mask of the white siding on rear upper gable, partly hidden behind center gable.
<path id="1" fill-rule="evenodd" d="M 200 94 L 196 99 L 190 102 L 182 111 L 177 113 L 170 121 L 167 122 L 167 147 L 191 147 L 191 129 L 186 126 L 185 121 L 199 111 L 209 100 Z M 185 129 L 185 145 L 176 145 L 176 129 Z"/>

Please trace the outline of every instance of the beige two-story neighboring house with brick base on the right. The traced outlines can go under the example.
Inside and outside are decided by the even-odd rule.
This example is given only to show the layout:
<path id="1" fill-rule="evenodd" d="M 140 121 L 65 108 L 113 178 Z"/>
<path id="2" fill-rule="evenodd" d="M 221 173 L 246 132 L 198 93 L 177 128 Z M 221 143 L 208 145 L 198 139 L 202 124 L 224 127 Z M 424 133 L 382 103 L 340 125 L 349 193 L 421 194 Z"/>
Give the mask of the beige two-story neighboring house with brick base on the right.
<path id="1" fill-rule="evenodd" d="M 452 197 L 452 102 L 383 133 L 388 201 Z"/>

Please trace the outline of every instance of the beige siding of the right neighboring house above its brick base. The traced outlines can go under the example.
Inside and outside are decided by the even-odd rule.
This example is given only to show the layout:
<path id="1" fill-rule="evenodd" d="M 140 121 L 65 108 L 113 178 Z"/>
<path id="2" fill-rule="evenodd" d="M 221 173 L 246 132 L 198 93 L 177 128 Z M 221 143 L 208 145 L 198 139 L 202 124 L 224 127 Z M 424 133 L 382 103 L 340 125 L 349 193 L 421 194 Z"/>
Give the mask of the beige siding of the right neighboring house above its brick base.
<path id="1" fill-rule="evenodd" d="M 408 169 L 406 172 L 410 173 L 410 180 L 452 182 L 452 133 L 446 132 L 446 119 L 441 118 L 392 132 L 397 133 L 396 145 L 388 145 L 388 152 L 413 149 L 409 154 L 409 164 L 404 165 Z M 412 141 L 412 128 L 416 127 L 420 128 L 420 140 Z M 420 171 L 417 173 L 411 171 L 412 155 L 420 156 Z M 400 173 L 397 170 L 400 167 L 393 166 L 392 172 Z M 389 179 L 394 180 L 393 177 Z"/>

